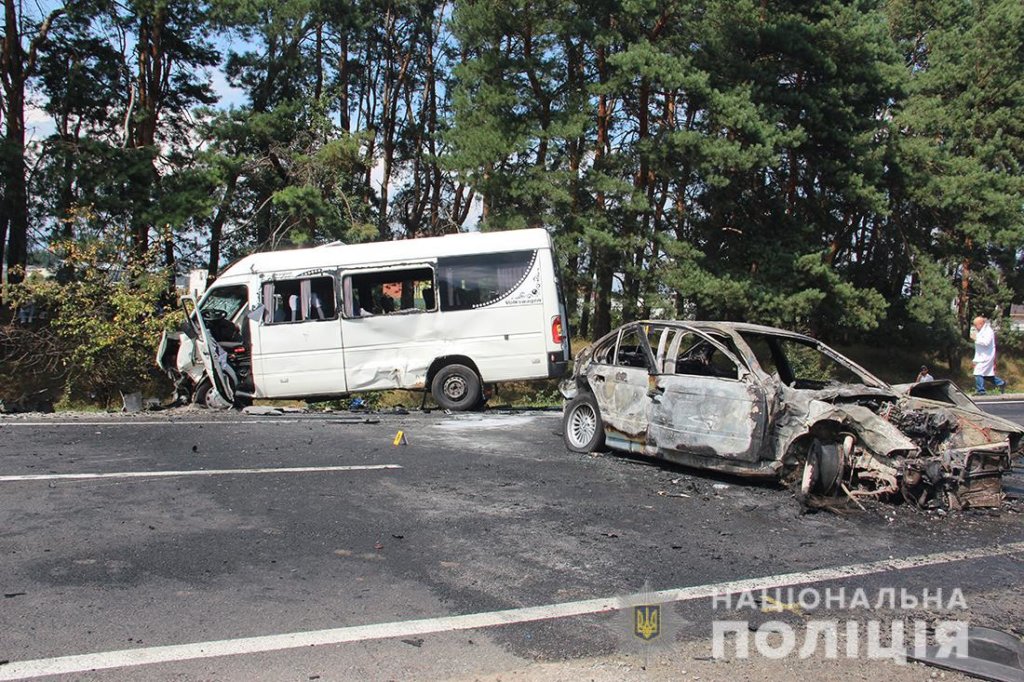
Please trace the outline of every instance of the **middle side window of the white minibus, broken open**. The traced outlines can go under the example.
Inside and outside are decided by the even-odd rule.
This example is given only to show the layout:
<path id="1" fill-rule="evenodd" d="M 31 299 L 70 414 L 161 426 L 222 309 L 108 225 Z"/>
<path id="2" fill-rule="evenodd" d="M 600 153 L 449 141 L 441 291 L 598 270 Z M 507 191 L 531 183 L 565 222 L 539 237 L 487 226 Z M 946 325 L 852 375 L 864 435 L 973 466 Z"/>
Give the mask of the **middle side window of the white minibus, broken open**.
<path id="1" fill-rule="evenodd" d="M 434 271 L 429 267 L 346 274 L 342 292 L 346 317 L 432 312 L 437 309 Z"/>

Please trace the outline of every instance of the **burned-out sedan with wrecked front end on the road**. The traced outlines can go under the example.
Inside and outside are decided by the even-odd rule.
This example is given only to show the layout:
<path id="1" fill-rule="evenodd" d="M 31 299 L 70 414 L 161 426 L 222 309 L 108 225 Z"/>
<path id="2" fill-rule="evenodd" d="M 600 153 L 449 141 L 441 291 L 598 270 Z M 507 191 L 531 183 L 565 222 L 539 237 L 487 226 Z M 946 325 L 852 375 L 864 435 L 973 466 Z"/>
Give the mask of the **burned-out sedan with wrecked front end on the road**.
<path id="1" fill-rule="evenodd" d="M 774 479 L 805 501 L 997 506 L 1024 434 L 948 381 L 890 386 L 811 337 L 748 324 L 626 325 L 561 392 L 572 452 Z"/>

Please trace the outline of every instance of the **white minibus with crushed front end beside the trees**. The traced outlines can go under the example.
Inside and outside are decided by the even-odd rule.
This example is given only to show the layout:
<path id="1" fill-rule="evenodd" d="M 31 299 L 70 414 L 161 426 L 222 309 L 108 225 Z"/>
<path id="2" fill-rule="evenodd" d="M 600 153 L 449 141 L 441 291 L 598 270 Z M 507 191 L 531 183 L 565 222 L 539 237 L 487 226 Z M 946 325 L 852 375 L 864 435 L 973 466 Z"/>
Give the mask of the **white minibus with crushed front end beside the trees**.
<path id="1" fill-rule="evenodd" d="M 201 341 L 251 358 L 251 374 L 231 380 L 249 398 L 430 389 L 442 407 L 472 409 L 484 384 L 560 377 L 569 359 L 544 229 L 258 253 L 198 307 Z M 158 363 L 170 371 L 173 355 L 195 380 L 199 358 L 185 367 L 168 342 Z M 207 374 L 223 365 L 207 359 Z"/>

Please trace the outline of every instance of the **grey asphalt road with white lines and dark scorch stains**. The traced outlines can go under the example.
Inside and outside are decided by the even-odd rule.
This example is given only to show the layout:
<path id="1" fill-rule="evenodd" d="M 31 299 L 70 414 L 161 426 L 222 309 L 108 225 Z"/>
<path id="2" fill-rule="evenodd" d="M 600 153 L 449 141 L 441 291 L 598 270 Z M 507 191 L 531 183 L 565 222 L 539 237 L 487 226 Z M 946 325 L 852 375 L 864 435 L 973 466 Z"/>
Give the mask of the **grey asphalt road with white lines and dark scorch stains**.
<path id="1" fill-rule="evenodd" d="M 611 607 L 640 591 L 676 640 L 707 639 L 722 614 L 696 588 L 749 579 L 962 590 L 957 617 L 1022 621 L 1019 502 L 807 514 L 782 488 L 568 454 L 559 413 L 370 421 L 0 419 L 0 679 L 472 679 L 635 647 Z"/>

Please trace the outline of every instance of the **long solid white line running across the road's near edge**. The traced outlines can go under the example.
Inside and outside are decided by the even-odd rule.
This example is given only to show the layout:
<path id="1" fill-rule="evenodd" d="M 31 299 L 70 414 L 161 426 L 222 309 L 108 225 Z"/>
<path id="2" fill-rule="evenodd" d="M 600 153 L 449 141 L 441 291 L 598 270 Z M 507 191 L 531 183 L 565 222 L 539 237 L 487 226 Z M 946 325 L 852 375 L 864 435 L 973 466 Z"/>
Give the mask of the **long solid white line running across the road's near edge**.
<path id="1" fill-rule="evenodd" d="M 346 642 L 362 642 L 375 639 L 391 639 L 427 635 L 459 630 L 476 630 L 495 626 L 532 623 L 551 619 L 563 619 L 574 615 L 604 613 L 638 604 L 670 603 L 707 599 L 719 595 L 740 594 L 743 592 L 772 590 L 820 583 L 823 581 L 858 578 L 873 573 L 884 573 L 893 570 L 908 570 L 954 561 L 984 559 L 1007 554 L 1024 552 L 1024 542 L 1004 545 L 1001 547 L 978 548 L 952 552 L 939 552 L 908 557 L 905 559 L 885 559 L 866 563 L 855 563 L 831 568 L 818 568 L 802 572 L 767 576 L 739 581 L 727 581 L 710 585 L 662 590 L 649 594 L 634 594 L 627 597 L 603 597 L 586 599 L 542 606 L 526 606 L 510 608 L 502 611 L 483 613 L 467 613 L 465 615 L 447 615 L 419 621 L 403 621 L 396 623 L 376 623 L 372 625 L 334 628 L 331 630 L 314 630 L 310 632 L 294 632 L 283 635 L 264 635 L 258 637 L 242 637 L 239 639 L 223 639 L 211 642 L 194 642 L 190 644 L 174 644 L 170 646 L 151 646 L 138 649 L 121 649 L 102 651 L 99 653 L 83 653 L 79 655 L 59 656 L 55 658 L 39 658 L 36 660 L 12 662 L 0 666 L 0 680 L 24 680 L 45 675 L 70 675 L 93 670 L 110 670 L 145 666 L 159 663 L 175 663 L 228 656 L 246 653 L 262 653 L 281 651 L 306 646 L 323 646 L 326 644 L 342 644 Z"/>

